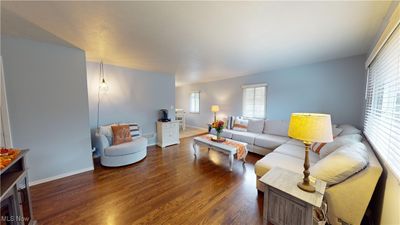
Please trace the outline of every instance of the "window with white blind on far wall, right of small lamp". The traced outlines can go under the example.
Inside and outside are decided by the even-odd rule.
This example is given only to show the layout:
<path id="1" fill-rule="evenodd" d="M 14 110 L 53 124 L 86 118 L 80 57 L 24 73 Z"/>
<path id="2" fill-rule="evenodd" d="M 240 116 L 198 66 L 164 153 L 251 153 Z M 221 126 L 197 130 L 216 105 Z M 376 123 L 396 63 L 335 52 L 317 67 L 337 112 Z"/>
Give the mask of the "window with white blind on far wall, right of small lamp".
<path id="1" fill-rule="evenodd" d="M 243 86 L 243 116 L 265 118 L 266 84 Z"/>

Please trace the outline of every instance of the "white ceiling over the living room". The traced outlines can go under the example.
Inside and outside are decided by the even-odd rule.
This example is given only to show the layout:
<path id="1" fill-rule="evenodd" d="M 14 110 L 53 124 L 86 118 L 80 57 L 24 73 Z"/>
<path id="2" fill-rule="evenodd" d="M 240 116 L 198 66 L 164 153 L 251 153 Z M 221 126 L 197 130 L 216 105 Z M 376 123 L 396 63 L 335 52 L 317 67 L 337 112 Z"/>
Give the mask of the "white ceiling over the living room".
<path id="1" fill-rule="evenodd" d="M 2 2 L 88 60 L 177 85 L 364 54 L 390 2 Z M 3 19 L 4 20 L 4 19 Z M 3 32 L 26 30 L 13 20 Z"/>

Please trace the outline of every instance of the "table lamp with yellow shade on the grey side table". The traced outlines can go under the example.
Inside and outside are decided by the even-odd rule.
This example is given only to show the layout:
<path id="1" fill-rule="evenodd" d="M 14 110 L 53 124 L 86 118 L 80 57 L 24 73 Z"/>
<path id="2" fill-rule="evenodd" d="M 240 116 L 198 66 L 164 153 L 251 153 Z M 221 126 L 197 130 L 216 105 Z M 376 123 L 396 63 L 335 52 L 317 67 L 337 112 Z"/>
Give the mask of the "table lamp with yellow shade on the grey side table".
<path id="1" fill-rule="evenodd" d="M 288 136 L 303 141 L 305 145 L 304 178 L 297 186 L 303 191 L 315 192 L 315 187 L 310 184 L 308 178 L 310 175 L 308 151 L 313 142 L 327 143 L 333 140 L 331 116 L 318 113 L 292 113 Z"/>

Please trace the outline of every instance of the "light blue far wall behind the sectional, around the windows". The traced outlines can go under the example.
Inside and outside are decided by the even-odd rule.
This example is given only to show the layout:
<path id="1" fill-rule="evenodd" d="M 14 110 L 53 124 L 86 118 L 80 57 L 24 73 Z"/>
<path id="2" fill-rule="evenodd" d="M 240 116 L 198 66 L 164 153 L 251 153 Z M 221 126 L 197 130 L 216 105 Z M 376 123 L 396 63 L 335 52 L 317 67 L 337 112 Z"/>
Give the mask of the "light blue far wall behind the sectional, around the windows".
<path id="1" fill-rule="evenodd" d="M 232 79 L 177 87 L 176 107 L 189 112 L 191 91 L 200 91 L 200 114 L 186 113 L 187 124 L 206 127 L 210 107 L 220 117 L 242 114 L 242 85 L 267 83 L 267 118 L 289 120 L 292 112 L 332 115 L 334 123 L 362 127 L 365 55 L 321 62 Z"/>

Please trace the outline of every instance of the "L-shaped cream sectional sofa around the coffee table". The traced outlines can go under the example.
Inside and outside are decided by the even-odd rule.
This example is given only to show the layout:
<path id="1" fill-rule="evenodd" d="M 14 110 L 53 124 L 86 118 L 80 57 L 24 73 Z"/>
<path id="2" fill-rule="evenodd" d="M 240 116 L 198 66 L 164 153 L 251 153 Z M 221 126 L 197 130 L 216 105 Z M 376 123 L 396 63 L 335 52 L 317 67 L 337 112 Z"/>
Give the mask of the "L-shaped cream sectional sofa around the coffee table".
<path id="1" fill-rule="evenodd" d="M 255 164 L 257 189 L 261 192 L 265 187 L 259 178 L 271 168 L 281 167 L 296 173 L 303 171 L 304 145 L 287 136 L 288 125 L 287 121 L 266 120 L 262 133 L 236 130 L 224 130 L 222 133 L 226 138 L 248 143 L 249 151 L 265 155 Z M 382 173 L 371 146 L 366 140 L 362 140 L 362 143 L 368 152 L 367 166 L 340 183 L 328 186 L 325 192 L 324 201 L 328 205 L 330 224 L 360 224 Z M 309 158 L 310 169 L 321 160 L 320 155 L 313 151 L 309 152 Z"/>

